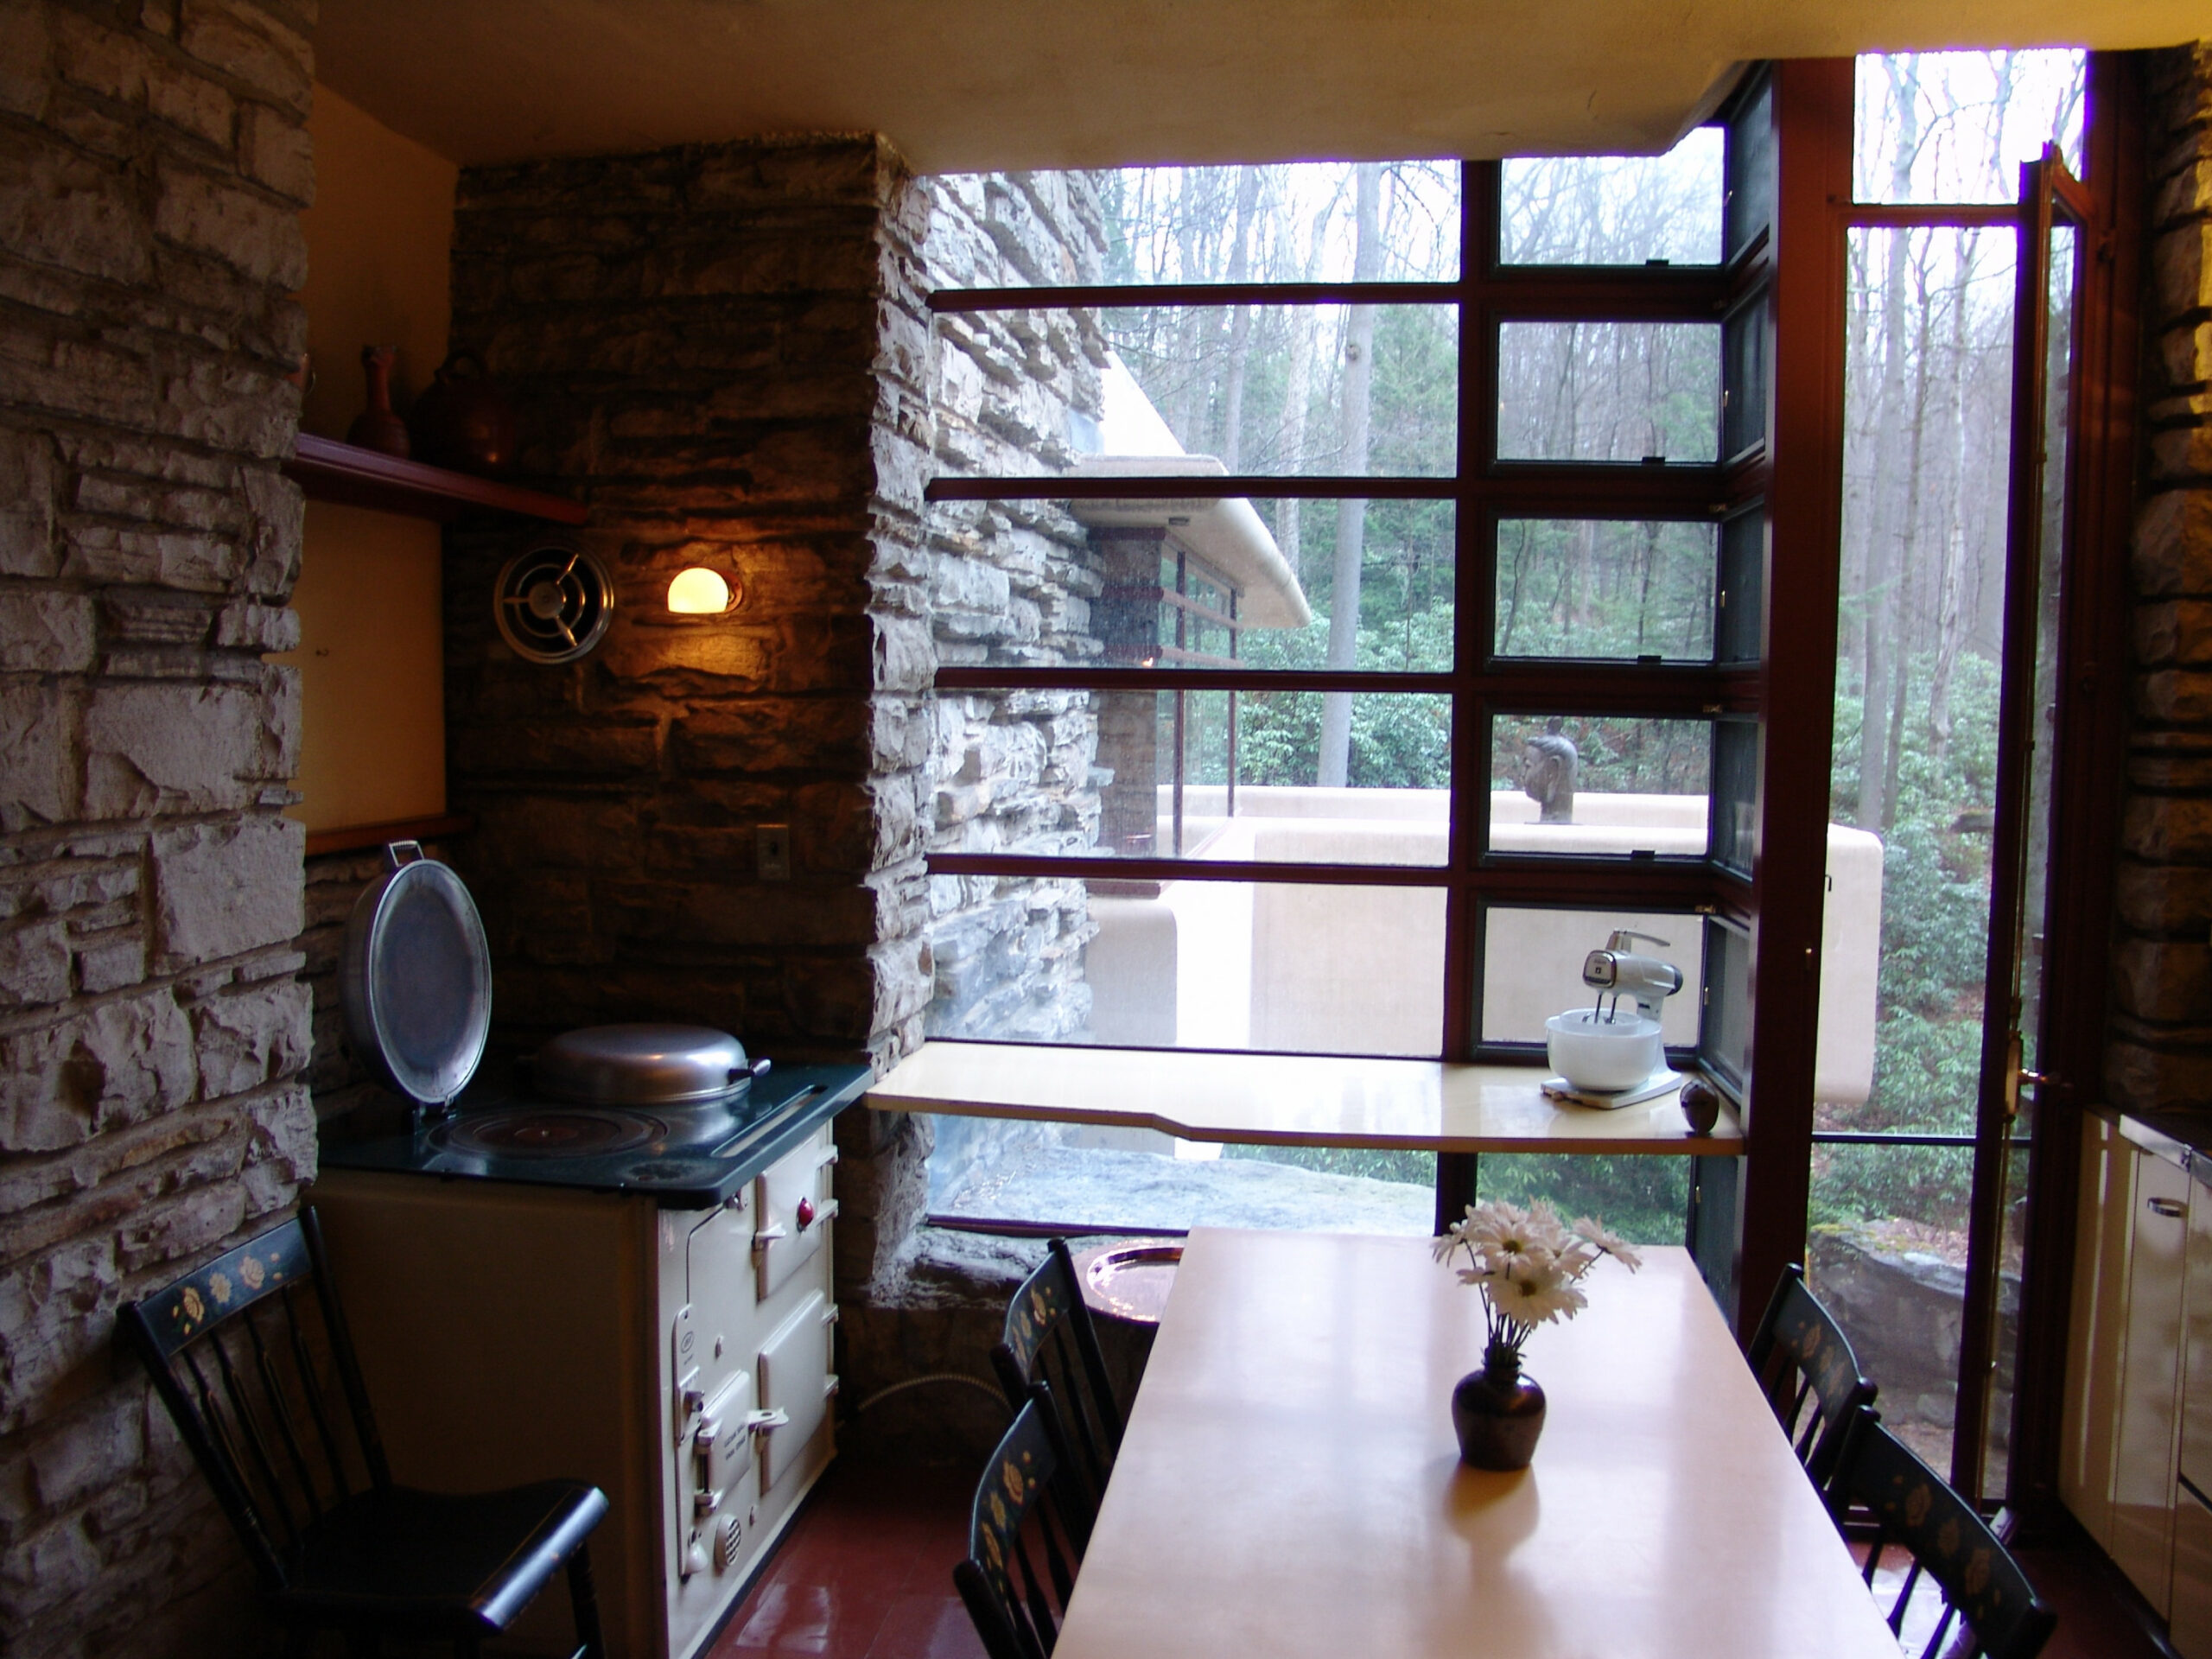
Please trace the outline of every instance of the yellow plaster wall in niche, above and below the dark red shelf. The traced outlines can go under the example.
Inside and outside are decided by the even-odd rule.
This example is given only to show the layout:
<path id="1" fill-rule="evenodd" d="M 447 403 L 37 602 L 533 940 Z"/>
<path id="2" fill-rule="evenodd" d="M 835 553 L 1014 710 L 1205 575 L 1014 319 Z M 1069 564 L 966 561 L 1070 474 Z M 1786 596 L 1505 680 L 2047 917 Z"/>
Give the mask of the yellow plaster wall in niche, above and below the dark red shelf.
<path id="1" fill-rule="evenodd" d="M 307 354 L 301 429 L 345 438 L 365 403 L 361 347 L 396 345 L 405 414 L 445 358 L 458 168 L 327 86 L 314 91 Z M 299 586 L 301 792 L 307 830 L 445 812 L 445 668 L 438 526 L 307 504 Z"/>

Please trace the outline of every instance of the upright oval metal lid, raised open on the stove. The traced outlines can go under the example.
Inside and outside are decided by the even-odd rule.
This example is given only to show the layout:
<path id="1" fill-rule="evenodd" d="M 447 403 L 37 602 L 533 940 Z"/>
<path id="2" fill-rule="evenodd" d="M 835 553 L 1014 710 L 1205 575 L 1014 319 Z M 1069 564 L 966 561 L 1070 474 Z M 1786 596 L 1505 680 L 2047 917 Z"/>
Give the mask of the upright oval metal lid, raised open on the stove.
<path id="1" fill-rule="evenodd" d="M 491 951 L 476 900 L 414 841 L 354 900 L 338 982 L 354 1053 L 389 1088 L 442 1106 L 476 1075 L 491 1035 Z"/>

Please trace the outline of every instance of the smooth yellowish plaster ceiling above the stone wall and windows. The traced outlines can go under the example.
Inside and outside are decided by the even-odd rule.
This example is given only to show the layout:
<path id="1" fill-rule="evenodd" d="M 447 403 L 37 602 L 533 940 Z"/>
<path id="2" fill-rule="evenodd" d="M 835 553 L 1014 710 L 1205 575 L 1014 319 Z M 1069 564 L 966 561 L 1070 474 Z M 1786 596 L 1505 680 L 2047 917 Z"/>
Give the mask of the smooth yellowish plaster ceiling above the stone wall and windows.
<path id="1" fill-rule="evenodd" d="M 876 131 L 922 173 L 1663 150 L 1756 58 L 2161 46 L 2208 0 L 323 0 L 440 155 Z"/>

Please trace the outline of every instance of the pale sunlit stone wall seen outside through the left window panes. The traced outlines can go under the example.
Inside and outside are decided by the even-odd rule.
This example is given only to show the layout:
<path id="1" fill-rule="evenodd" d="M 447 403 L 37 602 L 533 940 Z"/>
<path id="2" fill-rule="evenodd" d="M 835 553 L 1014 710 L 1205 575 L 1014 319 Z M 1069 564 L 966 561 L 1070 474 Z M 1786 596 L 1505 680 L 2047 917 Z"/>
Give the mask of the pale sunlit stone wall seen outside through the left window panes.
<path id="1" fill-rule="evenodd" d="M 933 179 L 931 288 L 1095 283 L 1106 250 L 1088 175 Z M 927 319 L 922 319 L 927 321 Z M 936 471 L 1064 473 L 1097 449 L 1106 341 L 1095 312 L 936 319 Z M 947 666 L 1099 659 L 1104 564 L 1057 502 L 942 502 L 929 515 L 929 633 Z M 1099 841 L 1088 692 L 942 692 L 931 706 L 931 852 L 1086 852 Z M 1082 883 L 936 876 L 929 1035 L 1068 1040 L 1091 1024 Z"/>

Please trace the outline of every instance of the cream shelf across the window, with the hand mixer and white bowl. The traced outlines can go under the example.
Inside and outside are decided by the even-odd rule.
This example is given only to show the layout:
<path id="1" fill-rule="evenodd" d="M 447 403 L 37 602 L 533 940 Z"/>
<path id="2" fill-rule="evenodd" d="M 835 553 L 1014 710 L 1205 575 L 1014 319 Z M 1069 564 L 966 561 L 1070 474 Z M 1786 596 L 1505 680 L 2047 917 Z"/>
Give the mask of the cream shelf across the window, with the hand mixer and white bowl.
<path id="1" fill-rule="evenodd" d="M 1593 1110 L 1546 1097 L 1542 1079 L 1535 1066 L 1438 1060 L 925 1042 L 867 1093 L 867 1104 L 885 1113 L 1155 1128 L 1232 1146 L 1743 1155 L 1743 1128 L 1725 1099 L 1719 1126 L 1692 1135 L 1674 1095 Z"/>

